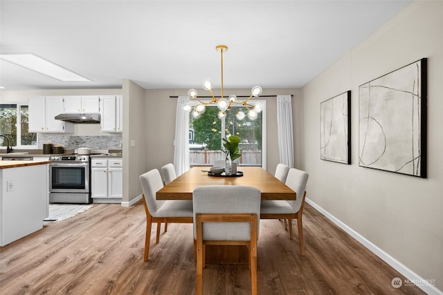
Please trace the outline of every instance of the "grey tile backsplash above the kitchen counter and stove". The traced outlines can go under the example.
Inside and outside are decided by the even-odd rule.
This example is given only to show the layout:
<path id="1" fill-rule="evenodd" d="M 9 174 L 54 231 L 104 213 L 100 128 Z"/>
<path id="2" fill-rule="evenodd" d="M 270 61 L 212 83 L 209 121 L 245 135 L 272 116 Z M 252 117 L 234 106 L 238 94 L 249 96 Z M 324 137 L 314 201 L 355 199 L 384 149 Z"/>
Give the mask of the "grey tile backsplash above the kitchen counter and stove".
<path id="1" fill-rule="evenodd" d="M 122 135 L 53 135 L 51 133 L 39 134 L 39 149 L 43 144 L 61 144 L 64 149 L 78 149 L 87 147 L 89 149 L 122 149 Z"/>

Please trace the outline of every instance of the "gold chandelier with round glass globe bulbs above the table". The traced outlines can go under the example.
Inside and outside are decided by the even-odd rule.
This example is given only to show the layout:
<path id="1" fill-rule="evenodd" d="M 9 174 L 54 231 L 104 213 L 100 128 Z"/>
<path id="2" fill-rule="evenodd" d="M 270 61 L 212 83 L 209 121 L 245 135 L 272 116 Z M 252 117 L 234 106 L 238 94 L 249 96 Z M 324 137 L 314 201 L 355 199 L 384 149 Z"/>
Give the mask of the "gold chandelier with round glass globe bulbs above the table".
<path id="1" fill-rule="evenodd" d="M 199 118 L 201 114 L 203 114 L 206 111 L 206 106 L 210 104 L 217 104 L 217 107 L 219 108 L 219 113 L 217 114 L 217 117 L 219 119 L 223 119 L 226 117 L 226 111 L 230 110 L 230 106 L 238 104 L 242 105 L 247 110 L 247 116 L 249 120 L 255 120 L 257 119 L 258 114 L 262 111 L 262 107 L 260 104 L 250 104 L 248 103 L 249 99 L 252 97 L 258 97 L 262 94 L 262 88 L 260 86 L 253 86 L 251 89 L 251 96 L 249 96 L 247 99 L 243 100 L 242 102 L 237 102 L 237 96 L 236 95 L 229 95 L 228 99 L 224 98 L 224 91 L 223 91 L 223 53 L 228 50 L 228 46 L 226 45 L 218 45 L 215 46 L 216 50 L 220 50 L 220 56 L 221 56 L 221 97 L 220 99 L 217 99 L 213 93 L 213 82 L 210 79 L 204 79 L 202 82 L 203 88 L 206 91 L 209 91 L 212 95 L 213 99 L 210 102 L 204 102 L 201 99 L 197 97 L 197 91 L 195 89 L 190 89 L 188 91 L 188 95 L 190 99 L 197 99 L 199 103 L 195 104 L 194 106 L 191 106 L 190 104 L 185 104 L 183 106 L 184 111 L 191 111 L 192 117 L 195 119 Z M 237 117 L 238 120 L 243 120 L 246 115 L 242 111 L 238 111 L 235 114 L 235 117 Z"/>

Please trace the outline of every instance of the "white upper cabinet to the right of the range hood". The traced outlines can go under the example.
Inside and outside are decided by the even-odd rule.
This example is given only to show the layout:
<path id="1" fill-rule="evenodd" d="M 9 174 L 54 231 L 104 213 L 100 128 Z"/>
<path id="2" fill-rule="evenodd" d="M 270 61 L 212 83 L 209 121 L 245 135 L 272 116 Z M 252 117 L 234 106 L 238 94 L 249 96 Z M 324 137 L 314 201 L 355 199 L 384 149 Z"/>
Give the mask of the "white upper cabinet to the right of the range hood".
<path id="1" fill-rule="evenodd" d="M 123 132 L 123 97 L 100 96 L 100 130 L 107 133 Z"/>

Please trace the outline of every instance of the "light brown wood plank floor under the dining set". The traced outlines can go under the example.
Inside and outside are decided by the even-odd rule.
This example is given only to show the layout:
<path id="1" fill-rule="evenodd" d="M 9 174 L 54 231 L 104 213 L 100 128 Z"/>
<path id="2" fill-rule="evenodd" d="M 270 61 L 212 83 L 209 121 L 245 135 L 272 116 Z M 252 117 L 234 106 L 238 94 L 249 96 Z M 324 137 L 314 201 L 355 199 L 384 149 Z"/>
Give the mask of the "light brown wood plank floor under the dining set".
<path id="1" fill-rule="evenodd" d="M 62 222 L 0 248 L 0 294 L 195 294 L 192 225 L 152 229 L 143 261 L 145 212 L 138 202 L 94 204 Z M 377 256 L 307 205 L 306 255 L 278 220 L 260 221 L 259 294 L 424 294 L 395 289 L 399 277 Z M 294 229 L 297 229 L 294 225 Z M 204 294 L 249 294 L 247 265 L 206 265 Z"/>

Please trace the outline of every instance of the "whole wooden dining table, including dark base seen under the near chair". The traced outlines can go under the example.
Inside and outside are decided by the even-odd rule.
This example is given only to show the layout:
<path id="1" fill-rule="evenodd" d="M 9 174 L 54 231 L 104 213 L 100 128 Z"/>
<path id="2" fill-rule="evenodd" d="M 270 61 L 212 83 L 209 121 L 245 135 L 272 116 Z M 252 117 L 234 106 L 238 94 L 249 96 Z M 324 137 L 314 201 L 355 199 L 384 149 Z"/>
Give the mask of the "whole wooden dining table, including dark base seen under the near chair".
<path id="1" fill-rule="evenodd" d="M 203 185 L 246 185 L 260 189 L 262 200 L 296 200 L 296 192 L 260 166 L 239 166 L 236 175 L 210 175 L 210 167 L 194 166 L 156 192 L 157 200 L 192 200 Z M 207 245 L 206 263 L 248 263 L 246 246 Z"/>

